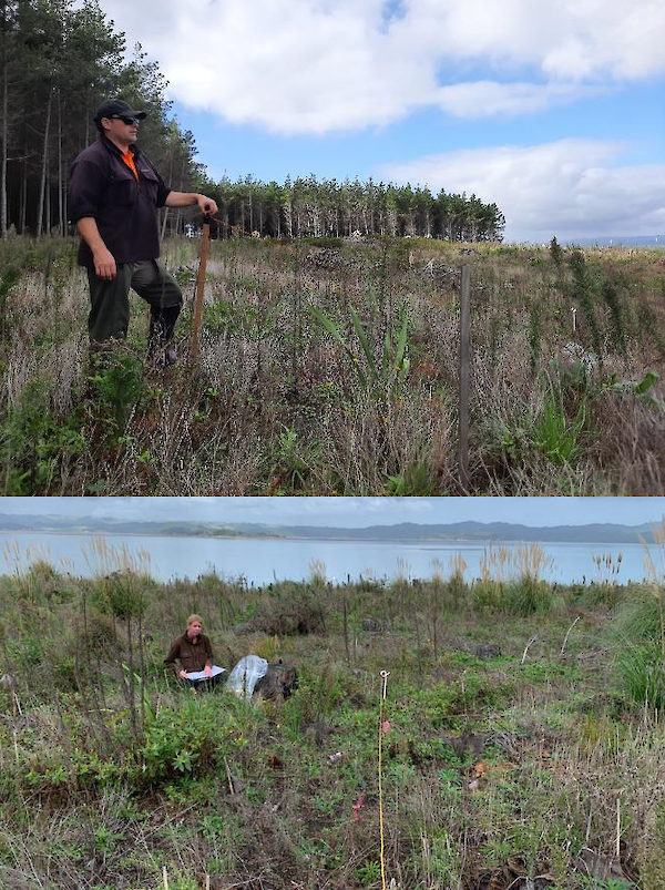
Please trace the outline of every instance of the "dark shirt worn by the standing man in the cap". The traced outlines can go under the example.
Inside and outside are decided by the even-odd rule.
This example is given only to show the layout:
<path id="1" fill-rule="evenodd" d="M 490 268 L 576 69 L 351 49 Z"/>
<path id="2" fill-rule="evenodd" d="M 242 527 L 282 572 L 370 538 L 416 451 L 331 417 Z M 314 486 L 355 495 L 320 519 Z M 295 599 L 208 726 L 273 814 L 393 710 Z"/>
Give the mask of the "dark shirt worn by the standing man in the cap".
<path id="1" fill-rule="evenodd" d="M 135 145 L 130 151 L 139 182 L 120 150 L 104 136 L 81 152 L 70 174 L 70 222 L 92 216 L 116 263 L 160 256 L 156 208 L 164 206 L 171 192 L 149 157 Z M 78 258 L 80 266 L 94 267 L 92 252 L 83 241 Z"/>

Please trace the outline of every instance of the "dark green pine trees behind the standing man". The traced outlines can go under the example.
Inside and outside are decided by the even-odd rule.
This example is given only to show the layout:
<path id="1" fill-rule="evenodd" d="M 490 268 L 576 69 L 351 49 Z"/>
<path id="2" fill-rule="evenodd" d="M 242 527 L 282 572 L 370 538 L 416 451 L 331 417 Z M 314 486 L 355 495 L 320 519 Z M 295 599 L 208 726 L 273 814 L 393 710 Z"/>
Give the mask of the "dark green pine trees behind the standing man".
<path id="1" fill-rule="evenodd" d="M 140 34 L 129 35 L 131 40 Z M 140 43 L 126 61 L 127 37 L 96 0 L 2 0 L 0 3 L 0 234 L 68 234 L 66 182 L 76 154 L 96 137 L 95 109 L 120 96 L 147 112 L 140 145 L 177 191 L 217 200 L 215 234 L 272 237 L 420 235 L 500 241 L 504 218 L 474 195 L 315 176 L 262 183 L 206 181 L 194 136 L 170 116 L 167 82 Z M 131 44 L 130 44 L 131 45 Z M 183 232 L 192 211 L 162 211 L 162 235 Z"/>

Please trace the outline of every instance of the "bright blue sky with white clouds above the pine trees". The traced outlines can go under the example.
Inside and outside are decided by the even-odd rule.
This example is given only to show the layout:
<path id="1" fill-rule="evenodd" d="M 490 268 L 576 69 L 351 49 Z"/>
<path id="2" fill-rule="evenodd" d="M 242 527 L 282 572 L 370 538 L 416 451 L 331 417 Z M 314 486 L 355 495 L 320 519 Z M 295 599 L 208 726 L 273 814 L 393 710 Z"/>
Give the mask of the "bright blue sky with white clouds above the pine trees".
<path id="1" fill-rule="evenodd" d="M 410 182 L 665 237 L 663 0 L 101 0 L 217 180 Z"/>

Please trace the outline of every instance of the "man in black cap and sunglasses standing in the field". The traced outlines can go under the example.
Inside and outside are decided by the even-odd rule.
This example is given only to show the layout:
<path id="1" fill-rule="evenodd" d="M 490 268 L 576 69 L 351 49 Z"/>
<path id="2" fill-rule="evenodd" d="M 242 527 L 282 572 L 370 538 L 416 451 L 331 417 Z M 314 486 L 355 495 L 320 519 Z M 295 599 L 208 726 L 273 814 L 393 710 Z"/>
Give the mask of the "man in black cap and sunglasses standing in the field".
<path id="1" fill-rule="evenodd" d="M 204 214 L 216 203 L 194 192 L 172 192 L 135 145 L 144 111 L 119 99 L 103 102 L 94 122 L 99 140 L 76 157 L 70 175 L 69 213 L 81 235 L 79 265 L 88 269 L 91 347 L 124 340 L 132 287 L 150 304 L 150 351 L 176 361 L 173 329 L 183 305 L 177 282 L 157 263 L 157 207 L 194 204 Z"/>

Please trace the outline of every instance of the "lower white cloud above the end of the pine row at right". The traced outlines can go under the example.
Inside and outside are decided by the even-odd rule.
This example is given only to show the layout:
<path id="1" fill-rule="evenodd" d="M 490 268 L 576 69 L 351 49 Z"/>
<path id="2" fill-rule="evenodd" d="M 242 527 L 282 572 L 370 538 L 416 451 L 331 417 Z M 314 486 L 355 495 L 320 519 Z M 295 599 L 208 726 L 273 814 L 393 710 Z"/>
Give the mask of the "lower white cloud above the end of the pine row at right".
<path id="1" fill-rule="evenodd" d="M 648 235 L 665 223 L 665 165 L 621 165 L 625 146 L 561 140 L 456 151 L 387 165 L 381 175 L 499 205 L 509 239 Z"/>

